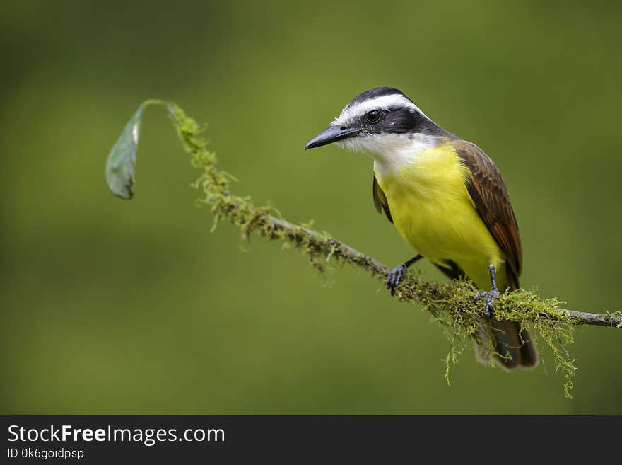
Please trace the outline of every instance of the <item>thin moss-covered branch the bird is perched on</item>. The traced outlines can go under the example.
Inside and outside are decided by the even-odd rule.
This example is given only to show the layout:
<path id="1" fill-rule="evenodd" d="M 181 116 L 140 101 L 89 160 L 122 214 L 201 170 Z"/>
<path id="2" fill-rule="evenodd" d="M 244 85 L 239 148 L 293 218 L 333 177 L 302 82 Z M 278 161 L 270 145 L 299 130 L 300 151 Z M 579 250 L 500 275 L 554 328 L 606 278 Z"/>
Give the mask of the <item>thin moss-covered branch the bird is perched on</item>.
<path id="1" fill-rule="evenodd" d="M 205 140 L 201 138 L 202 131 L 199 125 L 187 117 L 183 110 L 178 107 L 174 108 L 173 121 L 184 148 L 192 156 L 193 166 L 204 171 L 194 186 L 204 190 L 206 197 L 201 202 L 211 205 L 216 223 L 221 219 L 228 219 L 240 227 L 243 237 L 257 233 L 268 239 L 288 241 L 308 253 L 312 259 L 319 260 L 324 257 L 342 260 L 370 272 L 372 276 L 385 282 L 390 268 L 375 258 L 357 251 L 324 232 L 288 222 L 280 215 L 276 216 L 278 212 L 270 206 L 256 207 L 250 197 L 233 195 L 230 192 L 230 181 L 235 178 L 217 167 L 216 154 L 207 149 Z M 320 263 L 314 263 L 314 265 L 322 268 Z M 481 305 L 473 299 L 477 292 L 479 290 L 467 281 L 454 280 L 446 284 L 438 284 L 408 277 L 396 289 L 395 296 L 400 300 L 419 302 L 426 306 L 434 304 L 444 306 L 447 302 L 457 302 L 456 299 L 458 299 L 461 311 L 479 314 Z M 462 302 L 464 297 L 470 299 Z M 495 302 L 495 313 L 498 314 L 498 318 L 513 319 L 524 316 L 528 321 L 546 318 L 558 323 L 622 328 L 622 315 L 592 314 L 551 305 L 557 302 L 555 299 L 540 300 L 532 292 L 520 289 L 503 294 L 498 302 Z"/>

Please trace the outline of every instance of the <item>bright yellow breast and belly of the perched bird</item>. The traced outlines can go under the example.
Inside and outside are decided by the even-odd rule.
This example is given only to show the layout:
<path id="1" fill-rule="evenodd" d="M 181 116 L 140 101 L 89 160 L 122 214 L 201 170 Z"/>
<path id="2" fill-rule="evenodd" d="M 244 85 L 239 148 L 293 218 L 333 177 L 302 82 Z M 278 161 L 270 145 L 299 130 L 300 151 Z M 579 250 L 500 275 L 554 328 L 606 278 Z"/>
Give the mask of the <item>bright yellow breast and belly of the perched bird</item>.
<path id="1" fill-rule="evenodd" d="M 421 151 L 392 169 L 378 168 L 394 224 L 410 246 L 438 265 L 454 261 L 482 288 L 490 287 L 488 264 L 493 263 L 505 287 L 503 252 L 475 209 L 468 168 L 451 144 Z"/>

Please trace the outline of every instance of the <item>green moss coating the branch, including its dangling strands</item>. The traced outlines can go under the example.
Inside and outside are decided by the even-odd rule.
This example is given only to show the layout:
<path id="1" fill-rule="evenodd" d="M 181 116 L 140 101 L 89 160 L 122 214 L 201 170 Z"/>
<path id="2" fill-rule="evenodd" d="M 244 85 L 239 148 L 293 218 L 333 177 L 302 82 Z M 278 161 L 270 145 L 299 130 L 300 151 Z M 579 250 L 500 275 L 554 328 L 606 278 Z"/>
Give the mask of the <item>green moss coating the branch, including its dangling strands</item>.
<path id="1" fill-rule="evenodd" d="M 192 166 L 201 171 L 194 187 L 204 194 L 199 204 L 211 207 L 214 228 L 222 219 L 228 219 L 240 229 L 244 238 L 250 234 L 259 234 L 296 246 L 307 254 L 311 264 L 319 270 L 324 270 L 328 260 L 339 260 L 363 268 L 382 282 L 385 281 L 389 270 L 377 260 L 353 250 L 327 233 L 310 229 L 309 225 L 287 222 L 270 205 L 257 207 L 250 197 L 233 195 L 230 184 L 235 178 L 217 167 L 218 159 L 216 154 L 207 149 L 207 143 L 201 136 L 201 127 L 176 105 L 171 109 L 172 122 L 185 151 L 191 156 Z M 474 301 L 477 292 L 474 285 L 465 280 L 438 284 L 413 277 L 405 280 L 396 292 L 397 297 L 403 301 L 423 304 L 450 340 L 450 350 L 445 357 L 445 378 L 448 383 L 450 367 L 457 363 L 467 344 L 475 340 L 491 345 L 490 340 L 480 340 L 479 328 L 485 321 L 482 319 L 481 304 Z M 556 311 L 561 303 L 556 299 L 539 299 L 536 292 L 520 289 L 499 297 L 495 302 L 495 318 L 520 321 L 538 331 L 539 339 L 553 353 L 556 370 L 564 374 L 565 395 L 571 398 L 576 367 L 575 360 L 568 353 L 568 345 L 573 342 L 571 325 L 577 321 L 568 314 Z M 488 347 L 488 350 L 493 352 L 492 347 Z"/>

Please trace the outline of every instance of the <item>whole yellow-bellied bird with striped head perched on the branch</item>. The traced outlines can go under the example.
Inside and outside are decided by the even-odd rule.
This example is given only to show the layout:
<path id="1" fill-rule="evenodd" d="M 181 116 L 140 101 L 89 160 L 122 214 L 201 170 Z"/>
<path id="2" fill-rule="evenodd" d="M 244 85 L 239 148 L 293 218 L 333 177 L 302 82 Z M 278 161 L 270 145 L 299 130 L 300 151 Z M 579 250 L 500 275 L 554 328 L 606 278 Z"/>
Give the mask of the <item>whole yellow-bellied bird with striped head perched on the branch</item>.
<path id="1" fill-rule="evenodd" d="M 485 289 L 476 297 L 485 302 L 488 317 L 478 360 L 495 360 L 505 369 L 534 367 L 538 356 L 527 330 L 515 321 L 490 318 L 499 289 L 519 287 L 522 265 L 516 217 L 490 157 L 388 87 L 353 98 L 306 149 L 332 142 L 373 157 L 375 207 L 418 253 L 389 273 L 391 292 L 420 258 L 452 279 L 468 277 Z"/>

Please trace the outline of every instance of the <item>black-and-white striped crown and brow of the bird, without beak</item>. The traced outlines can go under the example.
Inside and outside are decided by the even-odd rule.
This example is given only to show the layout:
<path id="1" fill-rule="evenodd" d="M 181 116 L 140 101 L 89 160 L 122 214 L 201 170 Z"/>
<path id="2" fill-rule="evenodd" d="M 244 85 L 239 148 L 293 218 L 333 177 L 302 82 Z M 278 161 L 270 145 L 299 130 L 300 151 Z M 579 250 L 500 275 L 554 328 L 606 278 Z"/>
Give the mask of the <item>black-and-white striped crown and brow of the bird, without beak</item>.
<path id="1" fill-rule="evenodd" d="M 386 120 L 377 125 L 373 132 L 406 132 L 416 126 L 416 120 L 428 120 L 417 105 L 397 88 L 377 87 L 360 93 L 341 110 L 331 124 L 339 127 L 365 125 L 365 117 L 374 110 L 380 110 Z"/>

